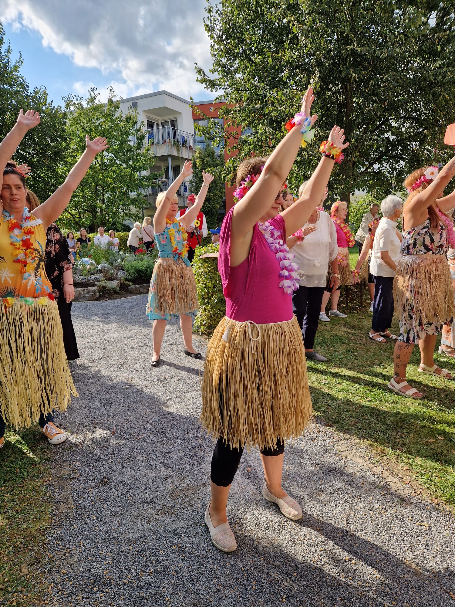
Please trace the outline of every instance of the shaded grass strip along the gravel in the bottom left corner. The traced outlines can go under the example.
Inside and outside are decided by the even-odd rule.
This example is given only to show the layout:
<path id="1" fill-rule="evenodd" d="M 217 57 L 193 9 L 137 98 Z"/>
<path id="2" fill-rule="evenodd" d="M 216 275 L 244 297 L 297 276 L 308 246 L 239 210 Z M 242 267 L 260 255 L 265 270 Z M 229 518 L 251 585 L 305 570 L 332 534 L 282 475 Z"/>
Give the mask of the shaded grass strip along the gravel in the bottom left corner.
<path id="1" fill-rule="evenodd" d="M 0 605 L 40 602 L 50 524 L 49 444 L 37 426 L 6 432 L 0 451 Z"/>

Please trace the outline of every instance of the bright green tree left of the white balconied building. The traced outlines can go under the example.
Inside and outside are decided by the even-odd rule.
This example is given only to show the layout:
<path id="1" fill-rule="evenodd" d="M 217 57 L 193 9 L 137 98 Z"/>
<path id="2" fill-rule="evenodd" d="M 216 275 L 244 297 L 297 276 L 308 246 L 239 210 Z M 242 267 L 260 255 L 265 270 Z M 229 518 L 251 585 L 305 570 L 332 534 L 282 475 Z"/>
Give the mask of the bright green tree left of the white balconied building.
<path id="1" fill-rule="evenodd" d="M 99 101 L 96 89 L 86 100 L 69 95 L 66 133 L 70 141 L 64 172 L 67 173 L 85 149 L 85 136 L 107 138 L 109 148 L 98 154 L 62 215 L 62 225 L 96 230 L 123 228 L 126 219 L 139 219 L 136 207 L 144 206 L 141 195 L 157 174 L 150 172 L 154 160 L 146 143 L 144 124 L 137 110 L 120 111 L 120 100 L 110 89 L 107 104 Z M 145 146 L 145 147 L 144 147 Z"/>

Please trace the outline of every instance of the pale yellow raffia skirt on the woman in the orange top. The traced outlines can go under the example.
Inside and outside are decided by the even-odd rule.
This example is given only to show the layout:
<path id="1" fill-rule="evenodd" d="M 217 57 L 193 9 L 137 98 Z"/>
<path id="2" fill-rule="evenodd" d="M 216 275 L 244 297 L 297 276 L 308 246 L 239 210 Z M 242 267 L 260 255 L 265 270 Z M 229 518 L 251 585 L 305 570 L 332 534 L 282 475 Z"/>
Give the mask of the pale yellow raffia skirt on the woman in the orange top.
<path id="1" fill-rule="evenodd" d="M 68 367 L 56 302 L 0 304 L 0 416 L 15 429 L 41 413 L 66 411 L 78 396 Z"/>

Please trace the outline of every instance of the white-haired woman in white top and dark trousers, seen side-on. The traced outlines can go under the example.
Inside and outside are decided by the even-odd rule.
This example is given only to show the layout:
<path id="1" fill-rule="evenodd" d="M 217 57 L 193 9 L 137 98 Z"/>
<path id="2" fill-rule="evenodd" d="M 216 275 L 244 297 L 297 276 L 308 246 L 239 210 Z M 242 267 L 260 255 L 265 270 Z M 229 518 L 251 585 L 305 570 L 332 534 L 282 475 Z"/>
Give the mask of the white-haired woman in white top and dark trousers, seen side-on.
<path id="1" fill-rule="evenodd" d="M 403 208 L 403 201 L 399 196 L 390 195 L 381 203 L 383 217 L 377 226 L 371 252 L 369 271 L 374 277 L 373 318 L 369 339 L 385 343 L 388 339 L 397 339 L 390 331 L 392 324 L 393 279 L 397 263 L 400 260 L 401 235 L 397 230 L 397 220 Z"/>

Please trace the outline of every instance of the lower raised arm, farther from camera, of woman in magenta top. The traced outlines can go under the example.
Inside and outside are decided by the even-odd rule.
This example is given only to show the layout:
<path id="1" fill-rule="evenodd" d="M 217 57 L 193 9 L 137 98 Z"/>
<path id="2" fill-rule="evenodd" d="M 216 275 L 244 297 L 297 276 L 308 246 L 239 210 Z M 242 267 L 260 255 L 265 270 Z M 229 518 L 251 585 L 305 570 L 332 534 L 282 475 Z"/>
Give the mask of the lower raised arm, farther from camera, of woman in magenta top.
<path id="1" fill-rule="evenodd" d="M 349 143 L 345 143 L 343 133 L 343 129 L 335 125 L 328 138 L 328 141 L 339 150 L 343 150 L 349 145 Z M 286 223 L 286 234 L 294 234 L 308 221 L 323 197 L 334 164 L 334 158 L 323 155 L 316 170 L 309 178 L 302 196 L 281 213 Z"/>

